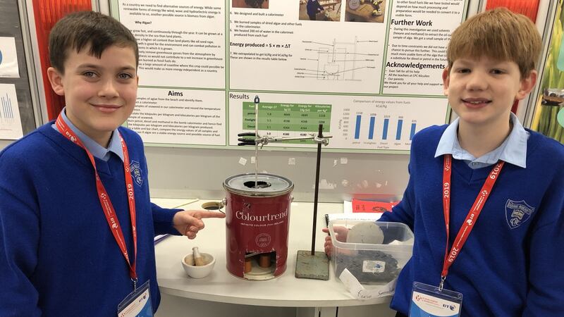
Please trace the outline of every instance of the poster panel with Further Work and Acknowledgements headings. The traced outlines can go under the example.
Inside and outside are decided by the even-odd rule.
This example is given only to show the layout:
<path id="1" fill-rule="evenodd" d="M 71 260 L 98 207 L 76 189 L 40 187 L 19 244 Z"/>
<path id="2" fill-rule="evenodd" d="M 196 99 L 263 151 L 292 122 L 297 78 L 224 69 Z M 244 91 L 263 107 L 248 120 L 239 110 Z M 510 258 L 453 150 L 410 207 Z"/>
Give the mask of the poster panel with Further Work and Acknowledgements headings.
<path id="1" fill-rule="evenodd" d="M 465 1 L 395 1 L 384 94 L 443 94 L 446 47 L 465 7 Z"/>

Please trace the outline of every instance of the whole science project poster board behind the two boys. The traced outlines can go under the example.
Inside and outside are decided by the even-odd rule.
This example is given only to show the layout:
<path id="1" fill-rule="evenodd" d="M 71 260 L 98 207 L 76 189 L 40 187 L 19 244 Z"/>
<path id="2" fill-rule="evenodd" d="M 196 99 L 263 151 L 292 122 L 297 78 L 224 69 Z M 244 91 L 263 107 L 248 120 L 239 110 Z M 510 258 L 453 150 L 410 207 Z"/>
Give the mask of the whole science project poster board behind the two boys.
<path id="1" fill-rule="evenodd" d="M 137 105 L 149 145 L 235 148 L 238 133 L 331 135 L 324 149 L 406 153 L 448 123 L 441 74 L 467 1 L 114 0 L 137 38 Z M 310 141 L 269 147 L 308 149 Z"/>

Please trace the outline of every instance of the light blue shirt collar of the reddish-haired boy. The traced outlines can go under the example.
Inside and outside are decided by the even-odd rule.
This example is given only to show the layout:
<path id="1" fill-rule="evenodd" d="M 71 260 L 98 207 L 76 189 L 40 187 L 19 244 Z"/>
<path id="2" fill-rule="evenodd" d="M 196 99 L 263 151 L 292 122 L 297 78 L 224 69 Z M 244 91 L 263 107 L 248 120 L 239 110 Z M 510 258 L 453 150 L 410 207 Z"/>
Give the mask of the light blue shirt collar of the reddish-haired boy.
<path id="1" fill-rule="evenodd" d="M 468 166 L 473 169 L 490 166 L 499 160 L 522 168 L 527 167 L 527 139 L 529 138 L 529 132 L 523 128 L 515 114 L 511 113 L 513 130 L 511 130 L 505 141 L 498 148 L 479 158 L 475 158 L 460 147 L 457 133 L 459 120 L 460 118 L 456 118 L 443 132 L 439 145 L 436 147 L 435 157 L 451 154 L 453 159 L 466 161 Z"/>

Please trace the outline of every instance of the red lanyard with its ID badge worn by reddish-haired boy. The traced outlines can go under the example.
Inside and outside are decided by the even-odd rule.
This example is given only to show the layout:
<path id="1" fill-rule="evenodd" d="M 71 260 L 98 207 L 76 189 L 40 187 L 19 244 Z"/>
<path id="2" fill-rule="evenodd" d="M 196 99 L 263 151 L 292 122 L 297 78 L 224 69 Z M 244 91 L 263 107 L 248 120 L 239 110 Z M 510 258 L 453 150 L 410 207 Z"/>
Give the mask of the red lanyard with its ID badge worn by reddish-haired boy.
<path id="1" fill-rule="evenodd" d="M 444 156 L 443 168 L 443 213 L 446 227 L 446 249 L 443 261 L 443 271 L 441 272 L 441 283 L 439 287 L 423 284 L 421 282 L 413 283 L 413 291 L 410 304 L 410 315 L 413 317 L 434 317 L 434 316 L 460 316 L 460 308 L 462 307 L 462 294 L 452 290 L 443 289 L 443 284 L 448 275 L 448 269 L 453 265 L 455 259 L 460 254 L 462 246 L 466 243 L 470 232 L 474 228 L 478 216 L 489 198 L 491 189 L 498 179 L 501 168 L 505 162 L 498 161 L 494 168 L 486 178 L 482 189 L 476 197 L 476 201 L 468 212 L 462 227 L 458 231 L 453 246 L 448 251 L 448 235 L 450 231 L 450 175 L 452 173 L 452 160 L 450 154 Z"/>

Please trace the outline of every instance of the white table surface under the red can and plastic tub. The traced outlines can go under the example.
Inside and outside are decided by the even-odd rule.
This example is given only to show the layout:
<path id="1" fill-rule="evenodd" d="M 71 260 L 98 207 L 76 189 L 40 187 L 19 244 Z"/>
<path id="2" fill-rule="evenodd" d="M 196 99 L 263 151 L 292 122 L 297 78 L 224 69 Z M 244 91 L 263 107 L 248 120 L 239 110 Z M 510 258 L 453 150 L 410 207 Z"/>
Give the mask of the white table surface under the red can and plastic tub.
<path id="1" fill-rule="evenodd" d="M 193 199 L 152 199 L 162 207 L 185 205 Z M 183 209 L 202 209 L 198 200 Z M 317 209 L 316 251 L 323 251 L 326 213 L 343 213 L 343 204 L 319 204 Z M 295 278 L 298 250 L 312 248 L 313 204 L 293 202 L 290 206 L 290 232 L 286 272 L 272 280 L 250 281 L 231 275 L 226 269 L 226 228 L 224 219 L 204 219 L 205 228 L 195 240 L 167 237 L 155 246 L 157 280 L 162 293 L 190 299 L 257 306 L 329 307 L 388 303 L 391 297 L 360 301 L 345 289 L 329 265 L 329 280 Z M 190 278 L 181 259 L 198 247 L 216 258 L 214 271 L 202 279 Z"/>

